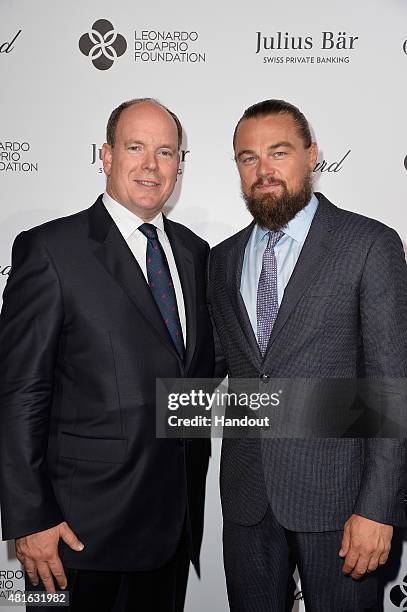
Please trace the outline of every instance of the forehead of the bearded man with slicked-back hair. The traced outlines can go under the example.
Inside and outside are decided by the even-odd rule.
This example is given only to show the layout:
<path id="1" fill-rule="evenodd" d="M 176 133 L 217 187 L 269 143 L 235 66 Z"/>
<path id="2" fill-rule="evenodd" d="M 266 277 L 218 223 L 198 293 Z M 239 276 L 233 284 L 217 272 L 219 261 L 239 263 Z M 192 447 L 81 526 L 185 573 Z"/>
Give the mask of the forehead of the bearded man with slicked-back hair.
<path id="1" fill-rule="evenodd" d="M 254 148 L 256 145 L 271 146 L 278 142 L 303 145 L 298 126 L 287 113 L 244 119 L 236 131 L 235 149 Z"/>

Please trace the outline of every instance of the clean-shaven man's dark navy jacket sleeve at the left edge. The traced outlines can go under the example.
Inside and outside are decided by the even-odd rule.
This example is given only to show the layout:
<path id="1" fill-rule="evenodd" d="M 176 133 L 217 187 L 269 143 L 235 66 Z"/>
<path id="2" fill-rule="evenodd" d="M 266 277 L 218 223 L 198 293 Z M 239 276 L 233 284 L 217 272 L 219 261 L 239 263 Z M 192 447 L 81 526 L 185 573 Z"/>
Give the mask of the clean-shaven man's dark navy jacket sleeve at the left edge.
<path id="1" fill-rule="evenodd" d="M 13 245 L 0 317 L 3 539 L 63 521 L 47 469 L 53 379 L 63 322 L 59 278 L 33 231 Z"/>

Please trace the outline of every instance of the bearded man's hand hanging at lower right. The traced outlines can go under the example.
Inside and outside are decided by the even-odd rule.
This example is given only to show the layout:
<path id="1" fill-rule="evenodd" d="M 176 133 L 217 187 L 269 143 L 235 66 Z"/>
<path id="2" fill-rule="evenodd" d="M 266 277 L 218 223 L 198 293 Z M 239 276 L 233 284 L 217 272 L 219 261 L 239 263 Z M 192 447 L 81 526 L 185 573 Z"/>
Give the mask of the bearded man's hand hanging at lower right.
<path id="1" fill-rule="evenodd" d="M 390 552 L 393 527 L 352 514 L 343 529 L 340 557 L 345 557 L 344 574 L 356 580 L 384 565 Z"/>

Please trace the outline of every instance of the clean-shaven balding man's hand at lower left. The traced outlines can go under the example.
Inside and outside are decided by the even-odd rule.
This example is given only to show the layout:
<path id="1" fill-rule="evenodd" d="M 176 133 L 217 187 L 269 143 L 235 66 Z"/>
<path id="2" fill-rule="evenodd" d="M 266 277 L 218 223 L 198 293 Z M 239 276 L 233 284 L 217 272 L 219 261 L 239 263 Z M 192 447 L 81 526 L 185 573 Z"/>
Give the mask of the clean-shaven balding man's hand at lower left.
<path id="1" fill-rule="evenodd" d="M 41 578 L 48 593 L 55 593 L 53 576 L 61 589 L 66 589 L 67 585 L 64 568 L 58 555 L 59 538 L 62 538 L 72 550 L 84 549 L 82 542 L 65 522 L 16 540 L 17 558 L 24 565 L 31 583 L 37 586 Z"/>

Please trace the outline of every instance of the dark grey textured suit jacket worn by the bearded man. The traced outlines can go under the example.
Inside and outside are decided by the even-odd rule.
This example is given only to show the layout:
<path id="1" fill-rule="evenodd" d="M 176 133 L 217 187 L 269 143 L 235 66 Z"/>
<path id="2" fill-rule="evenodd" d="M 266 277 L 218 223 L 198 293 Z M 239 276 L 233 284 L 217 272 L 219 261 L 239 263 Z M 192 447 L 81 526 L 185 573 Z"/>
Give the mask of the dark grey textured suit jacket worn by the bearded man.
<path id="1" fill-rule="evenodd" d="M 209 299 L 230 377 L 405 377 L 407 268 L 397 233 L 322 194 L 262 358 L 240 280 L 253 223 L 215 247 Z M 220 368 L 221 369 L 221 368 Z M 269 377 L 269 378 L 267 378 Z M 223 441 L 224 518 L 250 525 L 271 504 L 294 531 L 341 529 L 352 513 L 405 524 L 406 441 Z"/>

